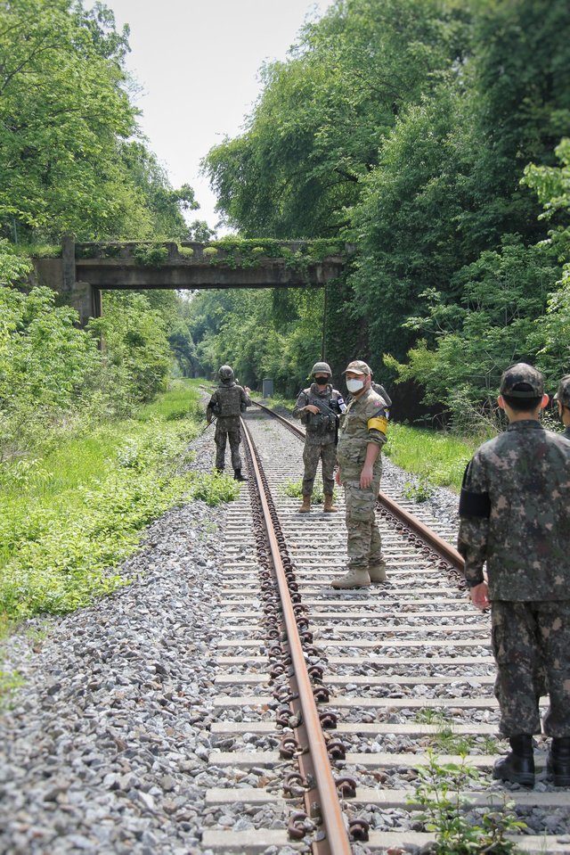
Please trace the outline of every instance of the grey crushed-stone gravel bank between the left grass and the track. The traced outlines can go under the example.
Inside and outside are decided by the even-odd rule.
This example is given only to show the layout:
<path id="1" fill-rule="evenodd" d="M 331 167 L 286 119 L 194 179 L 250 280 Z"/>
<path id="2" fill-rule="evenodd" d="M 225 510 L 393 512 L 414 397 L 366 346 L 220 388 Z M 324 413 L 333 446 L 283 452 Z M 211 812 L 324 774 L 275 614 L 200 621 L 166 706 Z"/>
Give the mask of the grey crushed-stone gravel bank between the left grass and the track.
<path id="1" fill-rule="evenodd" d="M 209 470 L 212 432 L 192 447 Z M 389 461 L 385 472 L 410 481 Z M 437 490 L 431 505 L 451 518 L 457 499 Z M 168 512 L 123 564 L 130 585 L 4 645 L 24 686 L 0 716 L 2 855 L 204 852 L 205 793 L 221 785 L 208 753 L 223 522 L 199 501 Z"/>

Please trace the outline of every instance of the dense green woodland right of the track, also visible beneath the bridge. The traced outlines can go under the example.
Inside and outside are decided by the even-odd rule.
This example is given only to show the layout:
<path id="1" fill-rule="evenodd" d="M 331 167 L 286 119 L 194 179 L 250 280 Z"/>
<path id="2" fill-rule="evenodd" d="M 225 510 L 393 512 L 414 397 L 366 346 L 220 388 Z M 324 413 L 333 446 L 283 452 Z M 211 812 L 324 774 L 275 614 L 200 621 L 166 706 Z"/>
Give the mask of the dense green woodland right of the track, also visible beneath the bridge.
<path id="1" fill-rule="evenodd" d="M 337 371 L 369 358 L 456 419 L 517 359 L 552 388 L 570 365 L 566 0 L 336 0 L 263 79 L 245 131 L 206 169 L 240 234 L 355 244 L 329 294 Z M 224 350 L 250 384 L 301 382 L 322 300 L 278 304 L 201 294 L 204 364 Z"/>

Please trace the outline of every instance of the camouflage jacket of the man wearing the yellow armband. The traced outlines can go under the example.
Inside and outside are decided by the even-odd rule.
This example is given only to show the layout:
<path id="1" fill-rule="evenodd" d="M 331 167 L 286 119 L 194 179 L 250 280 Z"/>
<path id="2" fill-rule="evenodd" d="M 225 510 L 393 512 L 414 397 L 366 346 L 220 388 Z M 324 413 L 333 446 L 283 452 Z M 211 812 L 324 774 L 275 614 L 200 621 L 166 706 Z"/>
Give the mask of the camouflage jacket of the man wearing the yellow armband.
<path id="1" fill-rule="evenodd" d="M 386 401 L 372 389 L 351 400 L 346 413 L 340 418 L 338 432 L 338 465 L 341 474 L 347 477 L 360 476 L 369 442 L 380 448 L 386 442 Z M 374 476 L 381 473 L 380 455 L 374 464 Z"/>

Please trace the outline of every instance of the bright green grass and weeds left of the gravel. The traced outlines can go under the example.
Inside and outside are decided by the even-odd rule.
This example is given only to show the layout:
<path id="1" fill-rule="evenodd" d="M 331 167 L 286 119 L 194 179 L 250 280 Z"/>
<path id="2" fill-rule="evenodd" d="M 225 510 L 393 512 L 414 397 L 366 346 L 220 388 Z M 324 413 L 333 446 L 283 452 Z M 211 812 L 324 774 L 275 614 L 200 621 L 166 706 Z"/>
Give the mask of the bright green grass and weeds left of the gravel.
<path id="1" fill-rule="evenodd" d="M 205 425 L 198 385 L 174 381 L 134 418 L 0 469 L 0 635 L 126 584 L 112 568 L 183 497 L 215 505 L 236 495 L 227 476 L 189 469 L 187 445 Z"/>

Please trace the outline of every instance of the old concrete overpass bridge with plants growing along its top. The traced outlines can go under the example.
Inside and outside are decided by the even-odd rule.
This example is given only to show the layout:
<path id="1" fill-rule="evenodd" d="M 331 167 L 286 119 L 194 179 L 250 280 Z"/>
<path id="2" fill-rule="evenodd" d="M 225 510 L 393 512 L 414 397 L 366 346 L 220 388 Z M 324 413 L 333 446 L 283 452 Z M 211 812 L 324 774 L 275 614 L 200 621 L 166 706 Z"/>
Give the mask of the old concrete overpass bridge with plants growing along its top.
<path id="1" fill-rule="evenodd" d="M 85 325 L 101 316 L 108 290 L 323 288 L 342 273 L 334 244 L 316 259 L 314 245 L 324 242 L 255 243 L 75 243 L 66 236 L 61 259 L 34 259 L 35 278 L 61 293 Z"/>

